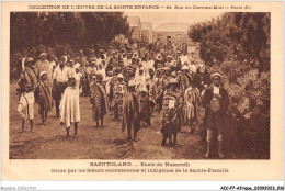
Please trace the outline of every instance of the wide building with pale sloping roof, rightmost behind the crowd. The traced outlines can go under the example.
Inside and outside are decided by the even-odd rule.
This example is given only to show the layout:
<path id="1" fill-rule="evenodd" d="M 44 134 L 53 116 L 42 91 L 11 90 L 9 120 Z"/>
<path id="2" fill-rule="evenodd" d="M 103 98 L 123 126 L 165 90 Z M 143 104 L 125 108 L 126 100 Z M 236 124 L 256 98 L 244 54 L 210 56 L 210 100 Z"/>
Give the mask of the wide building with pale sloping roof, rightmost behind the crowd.
<path id="1" fill-rule="evenodd" d="M 186 43 L 193 45 L 187 36 L 189 23 L 166 23 L 153 30 L 153 41 Z"/>

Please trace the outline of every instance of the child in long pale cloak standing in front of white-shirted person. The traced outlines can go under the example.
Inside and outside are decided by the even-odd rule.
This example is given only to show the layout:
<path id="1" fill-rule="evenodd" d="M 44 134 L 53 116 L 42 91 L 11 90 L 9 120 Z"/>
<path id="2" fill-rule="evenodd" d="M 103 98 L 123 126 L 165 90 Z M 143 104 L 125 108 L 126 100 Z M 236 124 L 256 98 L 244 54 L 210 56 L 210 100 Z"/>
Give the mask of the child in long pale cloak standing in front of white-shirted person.
<path id="1" fill-rule="evenodd" d="M 75 123 L 75 136 L 77 135 L 77 127 L 80 121 L 79 110 L 79 90 L 76 87 L 76 78 L 68 79 L 68 87 L 65 90 L 60 102 L 60 125 L 66 125 L 67 137 L 69 137 L 69 130 Z"/>

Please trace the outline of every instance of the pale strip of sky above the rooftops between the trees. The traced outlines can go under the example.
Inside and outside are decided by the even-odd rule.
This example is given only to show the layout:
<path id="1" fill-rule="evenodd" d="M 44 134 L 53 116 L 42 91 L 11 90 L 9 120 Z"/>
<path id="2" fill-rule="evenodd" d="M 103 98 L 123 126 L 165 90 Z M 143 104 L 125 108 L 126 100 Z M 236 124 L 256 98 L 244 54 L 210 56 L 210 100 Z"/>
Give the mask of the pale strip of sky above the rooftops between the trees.
<path id="1" fill-rule="evenodd" d="M 139 16 L 140 22 L 151 22 L 152 29 L 163 23 L 190 23 L 212 20 L 220 12 L 125 12 L 128 16 Z"/>

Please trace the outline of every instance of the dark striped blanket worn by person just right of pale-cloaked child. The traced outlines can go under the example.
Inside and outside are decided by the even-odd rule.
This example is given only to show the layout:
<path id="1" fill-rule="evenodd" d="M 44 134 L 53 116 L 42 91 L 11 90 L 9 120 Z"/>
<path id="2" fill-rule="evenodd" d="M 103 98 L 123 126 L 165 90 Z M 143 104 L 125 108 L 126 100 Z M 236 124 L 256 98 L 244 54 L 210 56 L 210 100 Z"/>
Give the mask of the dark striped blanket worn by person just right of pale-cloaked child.
<path id="1" fill-rule="evenodd" d="M 93 120 L 102 119 L 107 113 L 107 98 L 104 85 L 94 82 L 90 87 L 90 102 L 93 105 Z"/>

